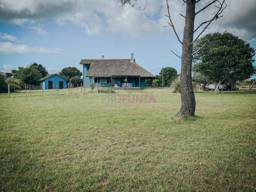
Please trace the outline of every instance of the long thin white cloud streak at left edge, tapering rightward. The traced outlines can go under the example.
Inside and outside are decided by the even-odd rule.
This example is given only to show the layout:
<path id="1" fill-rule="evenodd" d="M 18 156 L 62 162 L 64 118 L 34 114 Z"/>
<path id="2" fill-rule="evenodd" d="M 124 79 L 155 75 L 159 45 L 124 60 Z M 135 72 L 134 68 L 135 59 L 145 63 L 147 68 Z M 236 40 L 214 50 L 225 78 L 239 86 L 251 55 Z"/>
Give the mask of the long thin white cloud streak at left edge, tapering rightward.
<path id="1" fill-rule="evenodd" d="M 47 49 L 44 47 L 29 47 L 27 45 L 13 44 L 12 42 L 0 42 L 0 52 L 12 54 L 26 53 L 52 53 L 60 54 L 60 49 Z"/>

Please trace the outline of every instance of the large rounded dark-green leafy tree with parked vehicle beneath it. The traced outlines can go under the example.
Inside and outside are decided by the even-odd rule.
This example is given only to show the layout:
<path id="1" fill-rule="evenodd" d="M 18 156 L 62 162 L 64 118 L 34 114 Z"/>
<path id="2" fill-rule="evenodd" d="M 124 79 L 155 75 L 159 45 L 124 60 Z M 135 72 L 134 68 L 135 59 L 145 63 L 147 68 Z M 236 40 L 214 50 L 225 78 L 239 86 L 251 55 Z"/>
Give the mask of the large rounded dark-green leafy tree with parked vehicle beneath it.
<path id="1" fill-rule="evenodd" d="M 214 83 L 216 93 L 220 92 L 219 85 L 224 80 L 242 81 L 255 71 L 254 48 L 231 33 L 206 34 L 198 39 L 194 49 L 198 50 L 194 57 L 198 72 Z"/>

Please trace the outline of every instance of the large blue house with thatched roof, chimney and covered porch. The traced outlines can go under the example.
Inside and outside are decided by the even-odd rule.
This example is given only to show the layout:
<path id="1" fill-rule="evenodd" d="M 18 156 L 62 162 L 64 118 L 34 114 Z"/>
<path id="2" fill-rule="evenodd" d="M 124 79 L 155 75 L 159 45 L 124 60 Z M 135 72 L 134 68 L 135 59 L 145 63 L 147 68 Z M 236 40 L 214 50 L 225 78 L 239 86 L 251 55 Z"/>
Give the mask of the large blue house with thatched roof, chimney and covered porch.
<path id="1" fill-rule="evenodd" d="M 82 59 L 83 84 L 100 87 L 151 87 L 155 76 L 131 59 Z"/>

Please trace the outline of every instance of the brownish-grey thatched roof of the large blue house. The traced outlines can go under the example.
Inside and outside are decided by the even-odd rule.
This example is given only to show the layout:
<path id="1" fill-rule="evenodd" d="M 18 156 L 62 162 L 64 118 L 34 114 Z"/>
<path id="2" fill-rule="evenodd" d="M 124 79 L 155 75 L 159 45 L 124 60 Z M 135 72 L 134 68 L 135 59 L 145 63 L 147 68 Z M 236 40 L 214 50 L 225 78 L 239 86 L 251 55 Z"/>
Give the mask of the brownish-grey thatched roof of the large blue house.
<path id="1" fill-rule="evenodd" d="M 82 59 L 80 64 L 90 65 L 87 77 L 140 76 L 155 77 L 140 67 L 134 59 Z"/>

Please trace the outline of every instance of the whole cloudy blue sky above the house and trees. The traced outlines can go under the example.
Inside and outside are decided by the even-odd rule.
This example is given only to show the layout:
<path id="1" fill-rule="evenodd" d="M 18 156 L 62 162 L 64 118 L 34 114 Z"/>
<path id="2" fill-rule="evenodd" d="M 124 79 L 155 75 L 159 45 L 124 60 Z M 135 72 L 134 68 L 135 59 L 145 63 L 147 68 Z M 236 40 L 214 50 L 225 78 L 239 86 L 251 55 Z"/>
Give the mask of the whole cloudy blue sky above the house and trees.
<path id="1" fill-rule="evenodd" d="M 81 70 L 81 59 L 131 58 L 133 53 L 136 63 L 154 75 L 162 67 L 180 73 L 181 59 L 170 50 L 181 55 L 181 44 L 170 27 L 163 27 L 168 26 L 166 1 L 138 0 L 134 6 L 131 2 L 120 7 L 119 0 L 0 0 L 0 71 L 33 62 L 50 74 L 69 66 Z M 185 15 L 186 7 L 182 0 L 168 2 L 182 39 L 184 18 L 180 14 Z M 201 0 L 196 11 L 210 2 Z M 256 48 L 255 0 L 226 0 L 226 4 L 223 17 L 202 35 L 228 31 Z M 212 17 L 214 5 L 197 15 L 195 27 Z"/>

